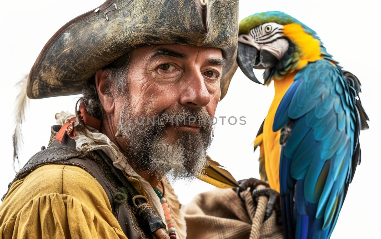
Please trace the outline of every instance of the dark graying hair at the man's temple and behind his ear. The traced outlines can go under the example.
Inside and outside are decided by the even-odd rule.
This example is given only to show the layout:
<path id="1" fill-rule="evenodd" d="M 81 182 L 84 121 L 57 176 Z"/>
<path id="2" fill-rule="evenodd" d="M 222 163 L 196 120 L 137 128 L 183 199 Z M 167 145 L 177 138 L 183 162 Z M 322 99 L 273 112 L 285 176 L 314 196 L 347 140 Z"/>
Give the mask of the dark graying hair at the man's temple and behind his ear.
<path id="1" fill-rule="evenodd" d="M 109 71 L 107 73 L 105 93 L 110 97 L 115 98 L 128 93 L 128 83 L 126 78 L 130 65 L 130 55 L 131 54 L 128 52 L 103 68 L 104 70 Z M 115 95 L 112 96 L 111 92 L 115 92 Z M 89 115 L 101 119 L 104 112 L 95 86 L 95 76 L 83 86 L 82 95 L 83 96 L 78 102 L 83 101 L 85 103 Z"/>

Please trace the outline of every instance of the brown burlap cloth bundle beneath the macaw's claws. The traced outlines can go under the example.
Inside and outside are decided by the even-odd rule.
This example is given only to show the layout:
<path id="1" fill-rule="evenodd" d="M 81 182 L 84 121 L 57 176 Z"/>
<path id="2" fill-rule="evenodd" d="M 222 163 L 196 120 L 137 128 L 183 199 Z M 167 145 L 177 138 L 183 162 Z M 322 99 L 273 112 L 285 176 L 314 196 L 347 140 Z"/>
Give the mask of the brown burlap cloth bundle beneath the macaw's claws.
<path id="1" fill-rule="evenodd" d="M 256 204 L 250 192 L 244 191 L 241 196 L 244 201 L 231 188 L 217 188 L 183 205 L 187 238 L 283 238 L 275 211 L 263 222 L 268 198 L 259 196 Z"/>

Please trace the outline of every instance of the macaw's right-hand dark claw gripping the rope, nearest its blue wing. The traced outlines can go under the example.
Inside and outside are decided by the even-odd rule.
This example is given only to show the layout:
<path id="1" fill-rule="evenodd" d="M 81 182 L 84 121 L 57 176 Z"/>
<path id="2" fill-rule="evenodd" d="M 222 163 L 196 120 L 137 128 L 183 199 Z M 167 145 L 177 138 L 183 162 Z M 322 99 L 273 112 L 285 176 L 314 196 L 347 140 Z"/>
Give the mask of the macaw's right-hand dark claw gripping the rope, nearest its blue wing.
<path id="1" fill-rule="evenodd" d="M 272 190 L 271 188 L 260 188 L 254 190 L 252 195 L 253 198 L 257 198 L 259 196 L 267 196 L 269 198 L 263 221 L 266 221 L 271 216 L 272 210 L 275 210 L 277 218 L 281 217 L 282 214 L 279 206 L 279 193 L 277 193 L 277 191 Z"/>

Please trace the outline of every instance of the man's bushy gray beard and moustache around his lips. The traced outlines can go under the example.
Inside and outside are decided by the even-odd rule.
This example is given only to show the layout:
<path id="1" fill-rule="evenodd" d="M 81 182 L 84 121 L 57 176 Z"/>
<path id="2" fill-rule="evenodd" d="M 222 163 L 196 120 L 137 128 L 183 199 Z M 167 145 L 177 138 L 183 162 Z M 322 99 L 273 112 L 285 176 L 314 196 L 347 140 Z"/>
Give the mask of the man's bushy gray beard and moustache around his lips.
<path id="1" fill-rule="evenodd" d="M 170 112 L 165 110 L 154 115 L 155 119 L 160 117 L 158 124 L 157 121 L 147 123 L 147 112 L 134 115 L 128 107 L 130 104 L 123 105 L 118 129 L 122 137 L 130 141 L 125 156 L 137 172 L 148 171 L 153 176 L 167 175 L 168 178 L 177 180 L 198 177 L 205 170 L 207 149 L 213 139 L 213 127 L 205 109 L 182 107 Z M 168 117 L 163 117 L 163 114 Z M 176 124 L 176 117 L 189 119 L 191 116 L 207 119 L 200 122 L 200 132 L 178 132 L 178 139 L 172 143 L 164 137 L 167 128 Z M 143 119 L 144 123 L 138 119 Z M 174 125 L 178 126 L 179 124 Z"/>

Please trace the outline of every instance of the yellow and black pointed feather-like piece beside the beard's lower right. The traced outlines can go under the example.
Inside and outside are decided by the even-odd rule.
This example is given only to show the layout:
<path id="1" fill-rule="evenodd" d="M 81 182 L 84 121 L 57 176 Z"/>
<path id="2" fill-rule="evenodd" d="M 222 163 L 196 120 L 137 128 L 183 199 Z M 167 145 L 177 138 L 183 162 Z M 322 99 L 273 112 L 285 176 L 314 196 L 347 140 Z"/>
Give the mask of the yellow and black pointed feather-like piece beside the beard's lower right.
<path id="1" fill-rule="evenodd" d="M 208 167 L 199 176 L 200 180 L 210 183 L 218 188 L 237 188 L 238 183 L 234 177 L 216 161 L 207 156 Z"/>

